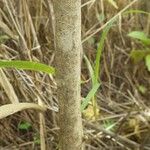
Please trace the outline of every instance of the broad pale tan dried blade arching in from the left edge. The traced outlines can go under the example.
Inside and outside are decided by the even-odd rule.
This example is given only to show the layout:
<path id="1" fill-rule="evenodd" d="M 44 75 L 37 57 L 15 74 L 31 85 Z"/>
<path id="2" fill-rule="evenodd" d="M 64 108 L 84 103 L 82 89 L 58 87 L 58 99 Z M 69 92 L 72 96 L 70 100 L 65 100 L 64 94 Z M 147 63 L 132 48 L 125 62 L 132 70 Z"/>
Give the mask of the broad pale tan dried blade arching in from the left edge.
<path id="1" fill-rule="evenodd" d="M 25 109 L 36 109 L 42 112 L 46 110 L 45 107 L 41 107 L 40 105 L 34 103 L 7 104 L 0 106 L 0 119 Z"/>

